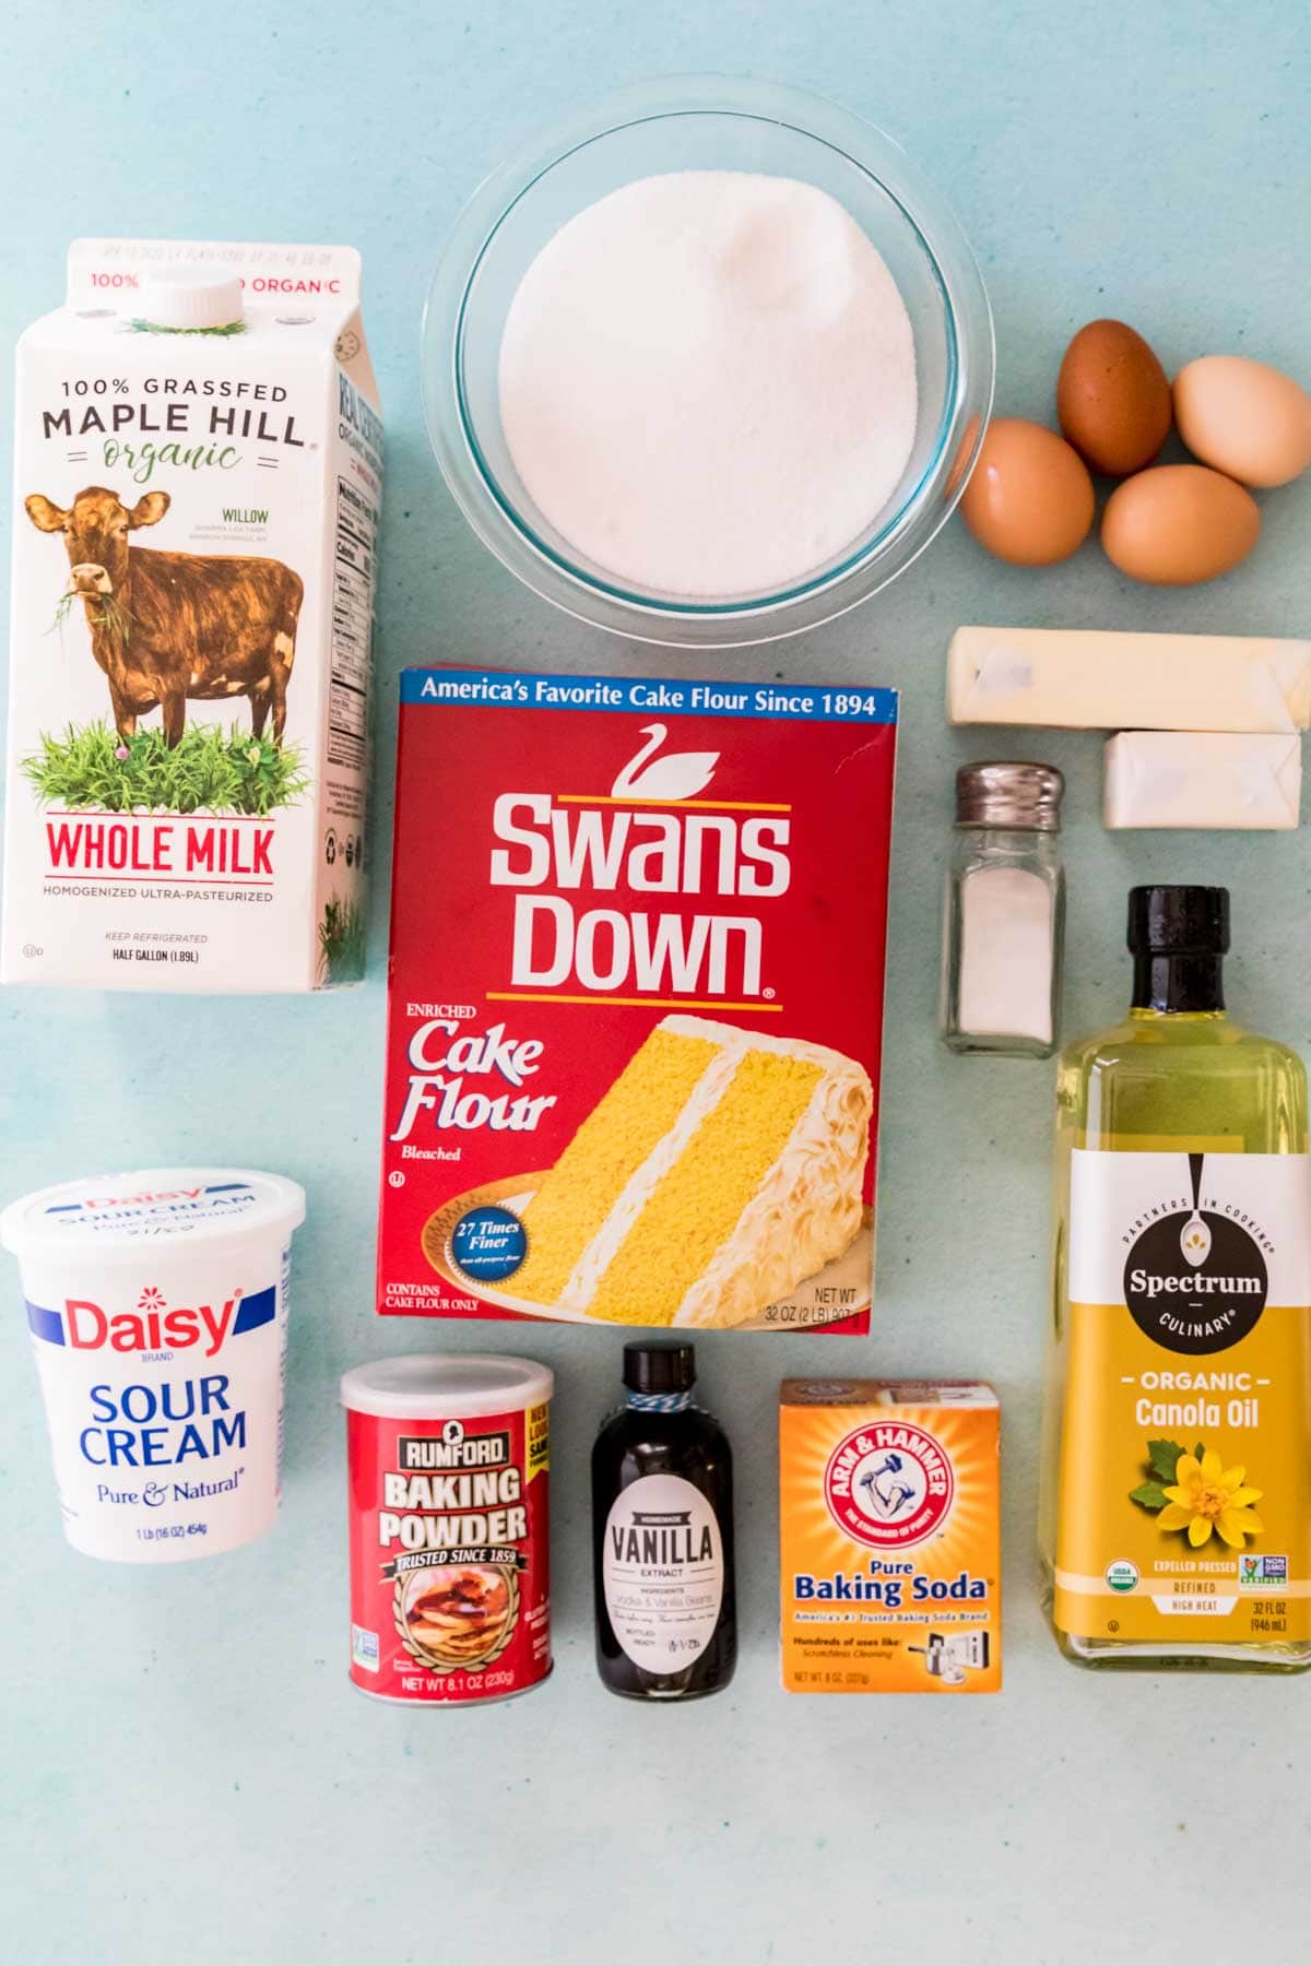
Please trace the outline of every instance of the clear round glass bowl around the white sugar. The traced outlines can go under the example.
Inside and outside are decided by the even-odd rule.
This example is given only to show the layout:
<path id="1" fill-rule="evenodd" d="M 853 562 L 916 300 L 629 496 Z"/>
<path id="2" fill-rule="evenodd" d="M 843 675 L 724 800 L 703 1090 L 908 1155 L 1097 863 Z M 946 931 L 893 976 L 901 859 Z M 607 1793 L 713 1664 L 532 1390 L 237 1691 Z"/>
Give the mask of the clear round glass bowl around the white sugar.
<path id="1" fill-rule="evenodd" d="M 497 368 L 519 281 L 576 212 L 662 171 L 763 171 L 835 197 L 902 291 L 920 407 L 902 480 L 867 531 L 800 584 L 725 602 L 643 592 L 586 560 L 525 492 L 501 431 Z M 513 574 L 637 641 L 715 649 L 794 635 L 894 580 L 947 521 L 993 407 L 993 317 L 965 236 L 906 153 L 820 96 L 729 77 L 619 90 L 493 171 L 460 214 L 423 317 L 423 401 L 456 503 Z"/>

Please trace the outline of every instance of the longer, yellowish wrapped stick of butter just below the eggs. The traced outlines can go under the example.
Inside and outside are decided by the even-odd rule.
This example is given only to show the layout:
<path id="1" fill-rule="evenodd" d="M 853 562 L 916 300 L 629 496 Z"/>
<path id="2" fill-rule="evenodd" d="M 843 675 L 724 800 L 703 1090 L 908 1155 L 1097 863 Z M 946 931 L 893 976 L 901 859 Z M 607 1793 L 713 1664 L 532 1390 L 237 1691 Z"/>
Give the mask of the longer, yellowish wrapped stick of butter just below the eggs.
<path id="1" fill-rule="evenodd" d="M 961 627 L 947 651 L 947 722 L 1305 731 L 1311 641 Z"/>

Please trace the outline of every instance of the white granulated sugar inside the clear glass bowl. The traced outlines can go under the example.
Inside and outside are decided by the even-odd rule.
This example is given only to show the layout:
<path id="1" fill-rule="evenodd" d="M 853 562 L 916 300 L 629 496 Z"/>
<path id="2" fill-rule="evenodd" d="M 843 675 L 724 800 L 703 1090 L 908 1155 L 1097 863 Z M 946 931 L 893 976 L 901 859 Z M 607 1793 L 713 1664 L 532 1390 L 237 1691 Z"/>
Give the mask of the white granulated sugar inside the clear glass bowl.
<path id="1" fill-rule="evenodd" d="M 546 242 L 505 320 L 499 391 L 523 486 L 576 552 L 662 596 L 774 594 L 896 490 L 914 332 L 837 199 L 676 171 Z"/>

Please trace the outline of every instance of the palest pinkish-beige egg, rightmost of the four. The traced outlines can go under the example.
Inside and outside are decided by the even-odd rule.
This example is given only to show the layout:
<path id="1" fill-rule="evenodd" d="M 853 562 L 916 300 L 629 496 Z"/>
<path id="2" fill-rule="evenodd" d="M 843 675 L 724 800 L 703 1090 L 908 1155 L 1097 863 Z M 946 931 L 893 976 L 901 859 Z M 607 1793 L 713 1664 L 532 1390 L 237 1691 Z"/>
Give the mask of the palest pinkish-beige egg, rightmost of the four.
<path id="1" fill-rule="evenodd" d="M 1179 436 L 1244 486 L 1285 486 L 1311 464 L 1311 395 L 1246 356 L 1201 356 L 1175 376 Z"/>

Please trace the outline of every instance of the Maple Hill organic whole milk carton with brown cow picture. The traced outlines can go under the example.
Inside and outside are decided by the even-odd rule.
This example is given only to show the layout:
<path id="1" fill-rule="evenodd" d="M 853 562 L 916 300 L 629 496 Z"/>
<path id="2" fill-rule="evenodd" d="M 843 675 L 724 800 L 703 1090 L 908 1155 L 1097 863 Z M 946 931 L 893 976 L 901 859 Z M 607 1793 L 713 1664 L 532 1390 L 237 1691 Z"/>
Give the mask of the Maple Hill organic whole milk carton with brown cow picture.
<path id="1" fill-rule="evenodd" d="M 381 497 L 360 256 L 77 240 L 14 421 L 0 975 L 358 981 Z"/>

